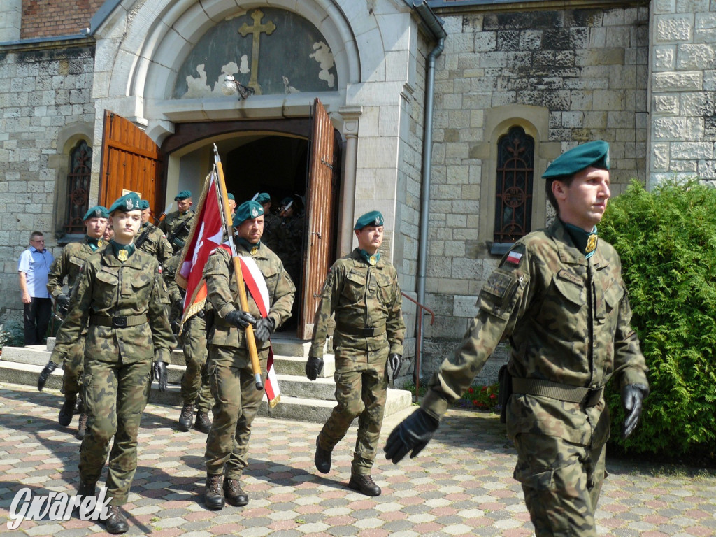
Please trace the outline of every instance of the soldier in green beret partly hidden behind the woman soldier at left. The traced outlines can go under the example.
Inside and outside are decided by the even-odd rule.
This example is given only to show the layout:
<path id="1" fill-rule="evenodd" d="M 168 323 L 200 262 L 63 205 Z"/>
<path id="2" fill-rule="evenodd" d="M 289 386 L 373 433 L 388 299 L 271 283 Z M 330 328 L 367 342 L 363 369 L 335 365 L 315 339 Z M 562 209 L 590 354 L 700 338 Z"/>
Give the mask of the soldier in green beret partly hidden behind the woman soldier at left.
<path id="1" fill-rule="evenodd" d="M 62 286 L 64 284 L 64 278 L 67 276 L 67 288 L 72 290 L 74 282 L 77 281 L 79 276 L 79 269 L 82 268 L 84 261 L 95 251 L 99 250 L 104 246 L 102 236 L 105 234 L 105 228 L 107 228 L 107 218 L 109 218 L 107 209 L 102 205 L 96 205 L 90 208 L 87 213 L 84 213 L 82 221 L 86 232 L 84 238 L 78 243 L 69 243 L 62 250 L 62 255 L 54 260 L 52 266 L 49 269 L 49 275 L 47 276 L 47 291 L 52 296 L 57 304 L 57 309 L 62 314 L 67 314 L 69 309 L 69 296 L 64 294 Z M 77 395 L 80 390 L 80 377 L 82 376 L 82 357 L 84 356 L 84 339 L 77 339 L 76 344 L 70 352 L 67 353 L 67 357 L 64 359 L 62 369 L 64 370 L 62 375 L 62 388 L 64 391 L 64 403 L 62 408 L 59 410 L 59 416 L 57 420 L 59 425 L 67 427 L 69 422 L 72 421 L 72 412 L 74 411 L 74 404 L 77 402 Z M 47 362 L 47 365 L 42 369 L 39 379 L 37 380 L 37 389 L 42 390 L 47 377 L 57 367 L 57 363 L 52 362 L 52 359 Z M 84 412 L 82 405 L 80 404 L 80 415 L 79 425 L 77 427 L 77 438 L 82 440 L 84 437 L 84 431 L 87 427 L 87 414 Z"/>

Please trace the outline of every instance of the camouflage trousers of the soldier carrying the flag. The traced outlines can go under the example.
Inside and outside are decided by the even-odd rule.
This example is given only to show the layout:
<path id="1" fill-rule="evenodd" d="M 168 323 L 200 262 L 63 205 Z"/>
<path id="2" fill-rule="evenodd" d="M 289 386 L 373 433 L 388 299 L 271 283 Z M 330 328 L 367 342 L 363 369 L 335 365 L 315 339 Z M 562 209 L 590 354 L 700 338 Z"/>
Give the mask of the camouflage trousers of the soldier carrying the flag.
<path id="1" fill-rule="evenodd" d="M 258 352 L 263 382 L 268 359 L 268 347 Z M 239 479 L 248 467 L 251 422 L 261 405 L 263 390 L 256 390 L 246 349 L 210 345 L 208 372 L 214 406 L 206 437 L 206 473 L 221 474 L 226 465 L 226 477 Z"/>

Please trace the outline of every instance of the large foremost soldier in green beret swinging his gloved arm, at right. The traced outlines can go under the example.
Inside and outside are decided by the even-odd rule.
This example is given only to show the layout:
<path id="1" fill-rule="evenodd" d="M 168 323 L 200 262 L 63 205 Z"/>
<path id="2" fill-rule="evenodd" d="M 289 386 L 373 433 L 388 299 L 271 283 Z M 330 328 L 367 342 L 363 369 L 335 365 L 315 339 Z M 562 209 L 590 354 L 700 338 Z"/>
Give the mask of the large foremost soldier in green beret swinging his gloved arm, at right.
<path id="1" fill-rule="evenodd" d="M 609 413 L 604 384 L 621 388 L 636 427 L 648 395 L 647 366 L 629 323 L 632 311 L 619 255 L 599 241 L 596 224 L 609 191 L 609 145 L 579 145 L 543 175 L 558 218 L 517 241 L 488 278 L 478 316 L 453 359 L 432 377 L 419 410 L 392 431 L 386 457 L 415 457 L 503 337 L 511 343 L 505 404 L 507 434 L 518 460 L 536 535 L 596 535 L 594 512 L 604 480 Z"/>

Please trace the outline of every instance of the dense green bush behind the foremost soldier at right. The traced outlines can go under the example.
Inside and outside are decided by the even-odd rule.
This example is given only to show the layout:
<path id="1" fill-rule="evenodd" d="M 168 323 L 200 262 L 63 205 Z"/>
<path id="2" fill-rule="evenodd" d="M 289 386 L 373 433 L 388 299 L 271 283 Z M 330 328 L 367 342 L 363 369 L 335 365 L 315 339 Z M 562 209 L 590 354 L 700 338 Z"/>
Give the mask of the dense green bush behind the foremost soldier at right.
<path id="1" fill-rule="evenodd" d="M 609 201 L 599 236 L 621 256 L 624 281 L 649 366 L 651 394 L 627 440 L 619 387 L 609 383 L 611 442 L 631 453 L 706 455 L 716 431 L 716 189 L 636 181 Z"/>

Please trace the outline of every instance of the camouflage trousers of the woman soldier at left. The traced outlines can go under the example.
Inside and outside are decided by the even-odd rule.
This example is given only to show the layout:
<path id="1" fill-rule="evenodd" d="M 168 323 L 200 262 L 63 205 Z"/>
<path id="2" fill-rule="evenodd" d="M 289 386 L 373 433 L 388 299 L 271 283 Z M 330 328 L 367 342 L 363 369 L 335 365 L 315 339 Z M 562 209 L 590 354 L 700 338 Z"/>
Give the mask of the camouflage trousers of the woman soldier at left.
<path id="1" fill-rule="evenodd" d="M 137 470 L 137 433 L 149 398 L 152 359 L 133 364 L 84 358 L 82 388 L 87 433 L 79 448 L 79 478 L 96 483 L 115 441 L 107 472 L 110 505 L 127 503 Z"/>

